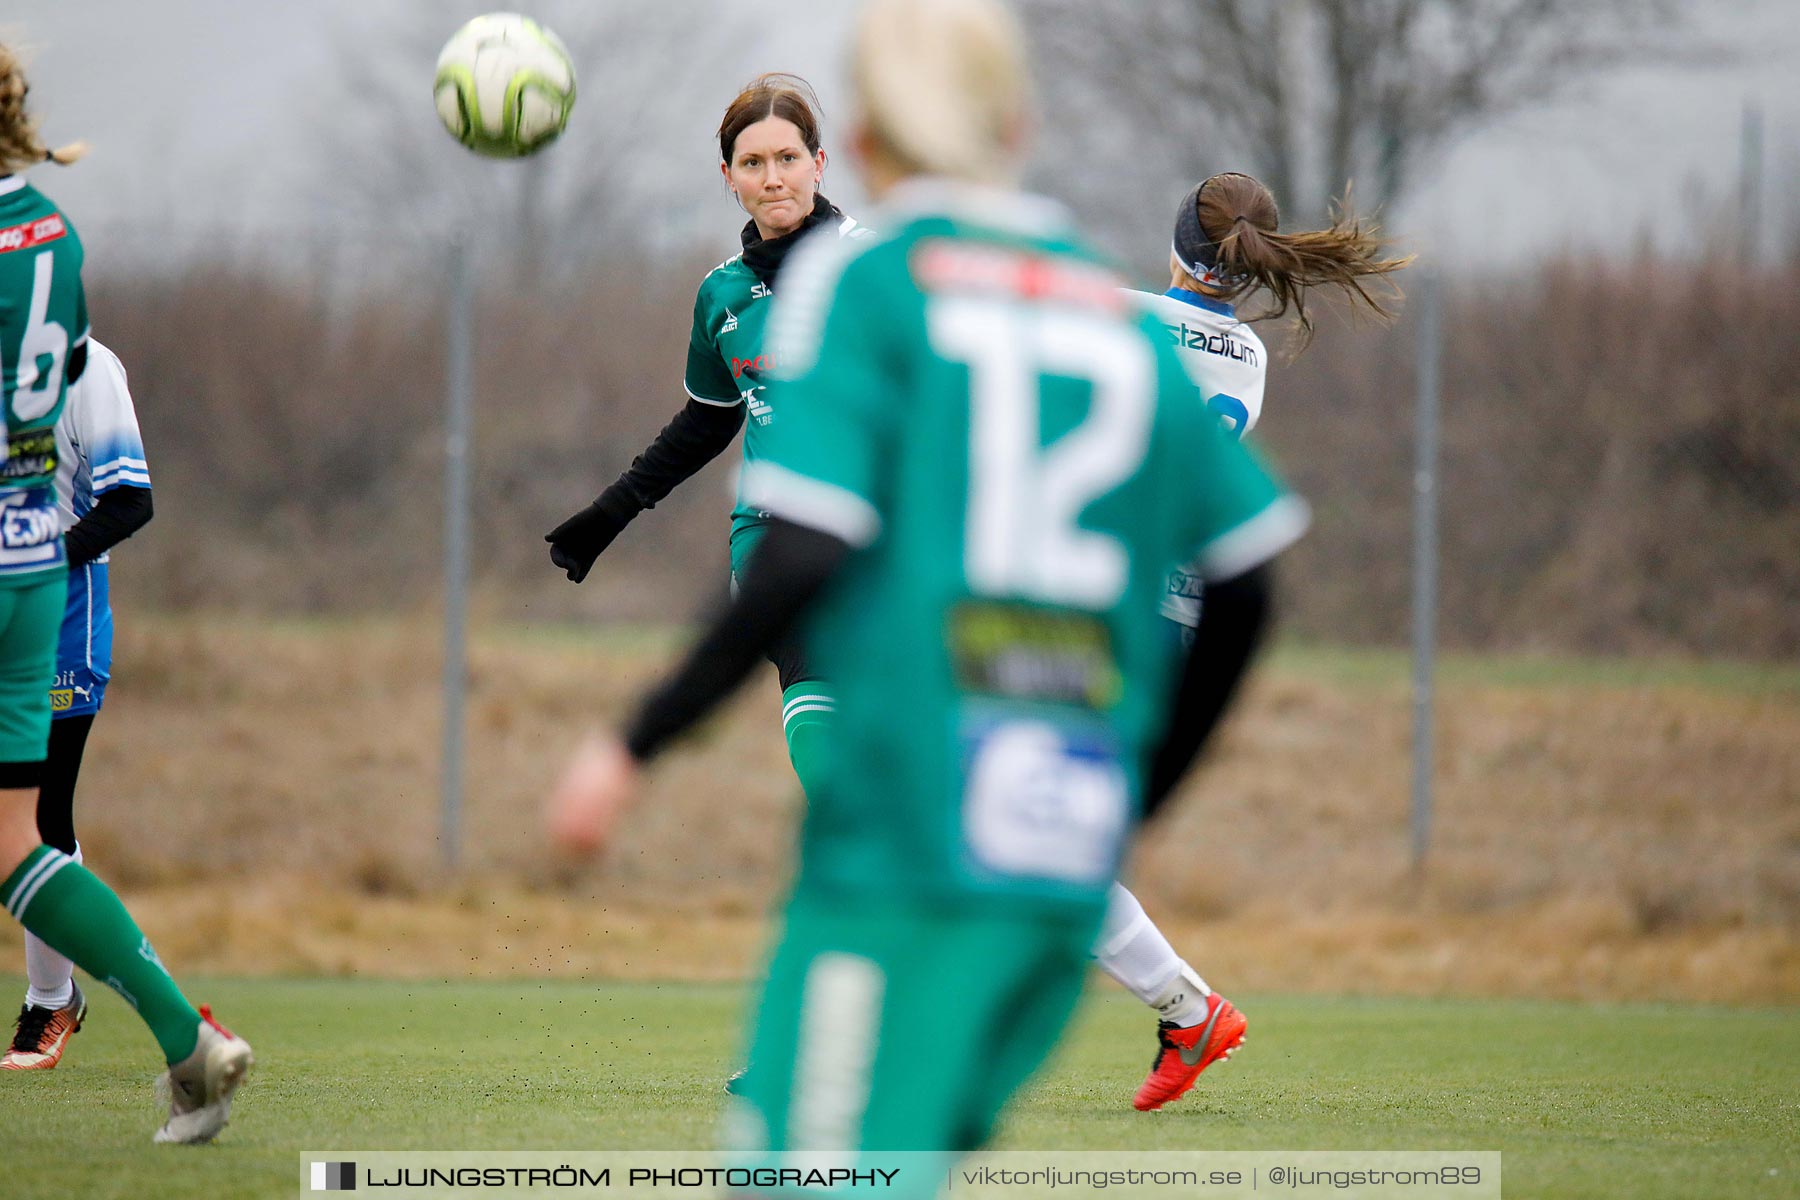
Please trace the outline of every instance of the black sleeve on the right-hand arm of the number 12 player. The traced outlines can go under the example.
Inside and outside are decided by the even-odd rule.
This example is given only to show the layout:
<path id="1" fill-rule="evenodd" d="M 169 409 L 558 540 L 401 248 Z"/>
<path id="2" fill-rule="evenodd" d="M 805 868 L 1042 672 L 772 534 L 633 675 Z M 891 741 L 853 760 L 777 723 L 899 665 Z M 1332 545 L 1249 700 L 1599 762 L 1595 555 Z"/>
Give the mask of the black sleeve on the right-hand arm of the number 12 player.
<path id="1" fill-rule="evenodd" d="M 1269 563 L 1206 585 L 1201 624 L 1193 630 L 1193 646 L 1181 667 L 1168 727 L 1150 754 L 1145 819 L 1156 815 L 1170 797 L 1231 705 L 1244 671 L 1269 630 L 1273 597 L 1274 569 Z"/>

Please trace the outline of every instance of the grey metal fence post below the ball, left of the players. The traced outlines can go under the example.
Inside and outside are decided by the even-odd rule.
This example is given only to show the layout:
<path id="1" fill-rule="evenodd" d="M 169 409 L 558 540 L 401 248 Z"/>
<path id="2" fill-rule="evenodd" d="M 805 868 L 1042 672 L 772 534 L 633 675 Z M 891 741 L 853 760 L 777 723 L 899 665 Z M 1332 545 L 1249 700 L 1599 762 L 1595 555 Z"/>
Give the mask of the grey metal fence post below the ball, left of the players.
<path id="1" fill-rule="evenodd" d="M 463 851 L 463 732 L 468 687 L 468 475 L 475 392 L 475 272 L 466 234 L 450 241 L 445 396 L 445 680 L 439 838 L 445 865 Z"/>

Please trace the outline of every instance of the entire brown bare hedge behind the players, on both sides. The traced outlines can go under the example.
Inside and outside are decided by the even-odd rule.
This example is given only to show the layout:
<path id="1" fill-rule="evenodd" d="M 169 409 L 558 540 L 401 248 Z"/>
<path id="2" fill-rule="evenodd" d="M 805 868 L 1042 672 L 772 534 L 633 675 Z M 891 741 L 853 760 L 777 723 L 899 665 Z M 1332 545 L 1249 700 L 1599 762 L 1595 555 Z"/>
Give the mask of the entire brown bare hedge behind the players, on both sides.
<path id="1" fill-rule="evenodd" d="M 437 587 L 443 279 L 374 290 L 254 268 L 94 286 L 139 394 L 158 608 L 394 612 Z M 724 570 L 725 470 L 677 491 L 583 588 L 538 540 L 684 403 L 709 264 L 616 263 L 556 297 L 495 284 L 479 344 L 479 585 L 513 619 L 668 621 Z M 360 272 L 360 273 L 358 273 Z M 1552 263 L 1451 288 L 1440 626 L 1453 646 L 1800 653 L 1800 264 Z M 169 331 L 180 336 L 169 336 Z M 1413 335 L 1325 318 L 1276 360 L 1258 437 L 1316 509 L 1289 628 L 1406 635 Z M 1280 333 L 1271 333 L 1280 344 Z M 729 455 L 727 455 L 729 457 Z"/>

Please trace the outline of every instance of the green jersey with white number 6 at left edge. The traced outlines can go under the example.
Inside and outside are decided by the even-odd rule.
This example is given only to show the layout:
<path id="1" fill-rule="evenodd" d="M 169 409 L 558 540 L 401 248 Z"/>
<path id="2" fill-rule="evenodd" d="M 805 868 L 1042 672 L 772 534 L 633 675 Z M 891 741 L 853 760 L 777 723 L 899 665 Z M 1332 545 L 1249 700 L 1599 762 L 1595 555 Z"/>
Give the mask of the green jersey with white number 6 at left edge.
<path id="1" fill-rule="evenodd" d="M 0 176 L 0 587 L 63 563 L 56 513 L 56 419 L 68 354 L 88 338 L 81 239 L 38 189 Z"/>

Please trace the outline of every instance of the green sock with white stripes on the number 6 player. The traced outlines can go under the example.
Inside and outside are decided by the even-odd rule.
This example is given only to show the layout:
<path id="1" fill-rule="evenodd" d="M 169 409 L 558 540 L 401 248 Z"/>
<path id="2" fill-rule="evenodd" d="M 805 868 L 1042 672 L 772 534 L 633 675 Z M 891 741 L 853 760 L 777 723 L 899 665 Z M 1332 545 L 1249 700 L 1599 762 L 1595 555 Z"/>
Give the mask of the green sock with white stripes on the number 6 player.
<path id="1" fill-rule="evenodd" d="M 169 979 L 119 896 L 59 849 L 40 846 L 0 883 L 18 923 L 126 999 L 162 1056 L 178 1063 L 200 1040 L 200 1013 Z"/>

